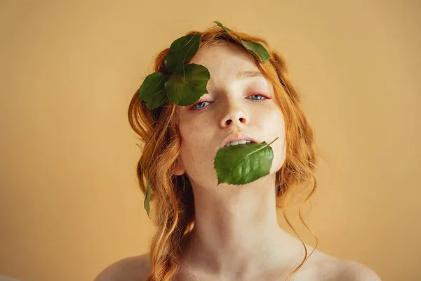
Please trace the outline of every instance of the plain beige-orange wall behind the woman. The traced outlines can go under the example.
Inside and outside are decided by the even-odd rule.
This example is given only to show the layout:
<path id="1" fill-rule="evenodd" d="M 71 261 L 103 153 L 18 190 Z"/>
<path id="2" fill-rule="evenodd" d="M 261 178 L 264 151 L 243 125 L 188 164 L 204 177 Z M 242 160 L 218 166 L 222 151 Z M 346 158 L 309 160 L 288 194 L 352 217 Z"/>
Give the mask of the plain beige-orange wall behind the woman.
<path id="1" fill-rule="evenodd" d="M 219 20 L 267 39 L 302 93 L 318 249 L 420 280 L 420 1 L 165 2 L 0 1 L 0 275 L 93 280 L 148 251 L 128 103 L 156 53 Z"/>

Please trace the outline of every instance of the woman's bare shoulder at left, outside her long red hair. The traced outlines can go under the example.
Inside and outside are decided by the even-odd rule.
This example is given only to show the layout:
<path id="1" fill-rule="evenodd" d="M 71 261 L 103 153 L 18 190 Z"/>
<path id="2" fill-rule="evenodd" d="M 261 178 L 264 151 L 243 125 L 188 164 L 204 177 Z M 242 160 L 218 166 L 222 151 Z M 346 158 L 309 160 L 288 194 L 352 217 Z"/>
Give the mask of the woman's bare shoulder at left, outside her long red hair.
<path id="1" fill-rule="evenodd" d="M 93 281 L 143 281 L 151 268 L 149 254 L 129 256 L 107 266 Z"/>

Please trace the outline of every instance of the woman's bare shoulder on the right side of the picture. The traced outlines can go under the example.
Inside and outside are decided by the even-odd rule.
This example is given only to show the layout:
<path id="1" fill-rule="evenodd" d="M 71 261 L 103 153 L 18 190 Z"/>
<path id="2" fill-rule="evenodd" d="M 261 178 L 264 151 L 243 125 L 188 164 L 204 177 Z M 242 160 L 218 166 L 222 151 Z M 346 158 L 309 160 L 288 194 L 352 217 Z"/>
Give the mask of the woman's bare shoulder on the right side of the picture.
<path id="1" fill-rule="evenodd" d="M 381 281 L 379 275 L 368 266 L 344 259 L 325 259 L 319 263 L 321 280 L 329 281 Z"/>

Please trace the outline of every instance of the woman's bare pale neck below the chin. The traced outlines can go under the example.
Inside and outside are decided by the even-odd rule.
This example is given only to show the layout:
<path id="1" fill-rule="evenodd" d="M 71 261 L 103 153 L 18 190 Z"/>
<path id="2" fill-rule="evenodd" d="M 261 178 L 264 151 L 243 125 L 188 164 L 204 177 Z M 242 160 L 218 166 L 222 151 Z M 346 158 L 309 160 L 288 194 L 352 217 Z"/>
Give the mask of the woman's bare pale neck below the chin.
<path id="1" fill-rule="evenodd" d="M 196 272 L 234 279 L 279 266 L 290 235 L 277 223 L 274 176 L 194 188 L 196 221 L 182 260 Z"/>

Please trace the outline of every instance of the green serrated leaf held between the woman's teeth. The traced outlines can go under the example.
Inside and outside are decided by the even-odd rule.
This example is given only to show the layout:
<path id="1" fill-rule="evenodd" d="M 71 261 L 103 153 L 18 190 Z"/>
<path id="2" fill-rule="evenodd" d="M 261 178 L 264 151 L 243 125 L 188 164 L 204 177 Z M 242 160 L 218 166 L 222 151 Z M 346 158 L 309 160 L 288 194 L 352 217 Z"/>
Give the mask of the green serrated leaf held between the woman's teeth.
<path id="1" fill-rule="evenodd" d="M 269 145 L 264 141 L 220 148 L 213 162 L 218 185 L 243 185 L 268 175 L 274 159 L 273 150 Z"/>

